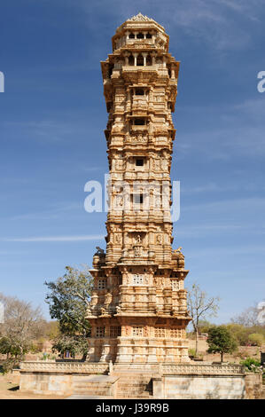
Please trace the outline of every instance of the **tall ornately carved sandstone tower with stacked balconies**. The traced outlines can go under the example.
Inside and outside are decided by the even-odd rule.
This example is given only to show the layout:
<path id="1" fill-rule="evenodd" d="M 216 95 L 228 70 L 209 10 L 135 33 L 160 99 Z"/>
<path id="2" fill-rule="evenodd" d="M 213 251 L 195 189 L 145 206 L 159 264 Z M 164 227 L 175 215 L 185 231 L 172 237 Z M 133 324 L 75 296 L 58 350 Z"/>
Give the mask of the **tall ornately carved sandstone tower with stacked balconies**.
<path id="1" fill-rule="evenodd" d="M 91 270 L 90 361 L 188 362 L 188 271 L 172 251 L 170 216 L 179 62 L 164 28 L 139 13 L 117 29 L 101 68 L 109 211 Z"/>

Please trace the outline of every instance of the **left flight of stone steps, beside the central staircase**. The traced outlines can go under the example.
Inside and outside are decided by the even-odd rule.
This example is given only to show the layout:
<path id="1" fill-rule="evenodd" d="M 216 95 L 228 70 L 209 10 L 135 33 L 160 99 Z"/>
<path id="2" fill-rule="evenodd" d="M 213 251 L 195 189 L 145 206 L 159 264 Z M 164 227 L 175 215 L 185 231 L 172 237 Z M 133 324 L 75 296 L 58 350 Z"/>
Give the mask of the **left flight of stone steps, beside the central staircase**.
<path id="1" fill-rule="evenodd" d="M 73 395 L 115 397 L 118 377 L 109 375 L 73 376 Z"/>

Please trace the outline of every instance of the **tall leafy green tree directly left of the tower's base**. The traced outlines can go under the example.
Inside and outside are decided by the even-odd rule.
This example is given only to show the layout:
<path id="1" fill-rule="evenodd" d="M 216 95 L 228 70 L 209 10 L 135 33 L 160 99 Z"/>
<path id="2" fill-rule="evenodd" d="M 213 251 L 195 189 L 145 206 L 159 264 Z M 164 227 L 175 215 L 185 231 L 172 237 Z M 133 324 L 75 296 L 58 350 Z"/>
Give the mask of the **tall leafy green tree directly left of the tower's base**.
<path id="1" fill-rule="evenodd" d="M 53 348 L 88 352 L 87 338 L 90 336 L 90 323 L 86 311 L 90 305 L 93 279 L 88 267 L 83 270 L 66 266 L 66 273 L 55 282 L 45 282 L 49 288 L 45 301 L 49 304 L 51 319 L 57 319 L 60 334 L 54 339 Z M 72 344 L 71 344 L 72 343 Z"/>

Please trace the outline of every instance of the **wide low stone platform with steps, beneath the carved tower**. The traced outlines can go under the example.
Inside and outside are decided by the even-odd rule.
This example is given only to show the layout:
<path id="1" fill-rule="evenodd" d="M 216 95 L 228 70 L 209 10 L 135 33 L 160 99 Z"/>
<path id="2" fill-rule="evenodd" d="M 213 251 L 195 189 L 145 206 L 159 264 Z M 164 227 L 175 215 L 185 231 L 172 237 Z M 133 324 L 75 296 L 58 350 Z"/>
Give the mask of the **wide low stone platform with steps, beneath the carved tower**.
<path id="1" fill-rule="evenodd" d="M 20 364 L 19 388 L 73 399 L 242 399 L 261 397 L 261 384 L 240 365 L 37 361 Z"/>

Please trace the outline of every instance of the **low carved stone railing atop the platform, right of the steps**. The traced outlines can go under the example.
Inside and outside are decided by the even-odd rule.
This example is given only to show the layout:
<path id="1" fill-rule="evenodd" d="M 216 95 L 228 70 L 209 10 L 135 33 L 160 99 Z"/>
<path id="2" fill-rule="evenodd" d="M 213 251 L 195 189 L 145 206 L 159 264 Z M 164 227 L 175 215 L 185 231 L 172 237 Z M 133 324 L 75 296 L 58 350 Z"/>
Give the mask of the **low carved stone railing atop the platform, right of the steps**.
<path id="1" fill-rule="evenodd" d="M 241 365 L 217 364 L 162 364 L 160 373 L 164 375 L 242 375 Z"/>

